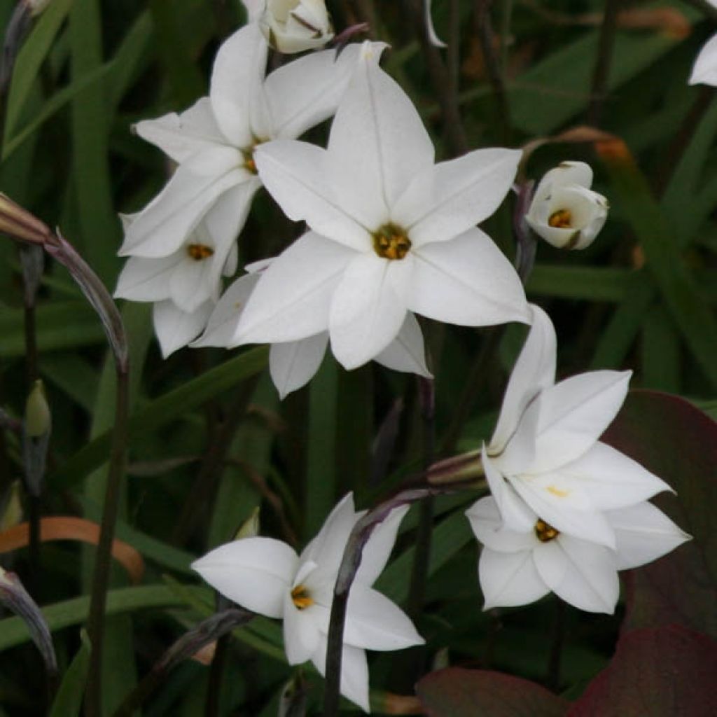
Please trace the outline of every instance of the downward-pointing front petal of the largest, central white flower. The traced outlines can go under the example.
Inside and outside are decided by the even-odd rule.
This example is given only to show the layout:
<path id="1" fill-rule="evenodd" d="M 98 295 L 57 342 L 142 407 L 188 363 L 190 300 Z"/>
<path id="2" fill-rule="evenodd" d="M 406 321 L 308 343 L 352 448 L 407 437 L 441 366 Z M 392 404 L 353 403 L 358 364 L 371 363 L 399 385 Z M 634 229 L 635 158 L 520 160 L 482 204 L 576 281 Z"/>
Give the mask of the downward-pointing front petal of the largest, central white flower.
<path id="1" fill-rule="evenodd" d="M 345 369 L 370 361 L 398 336 L 406 305 L 391 280 L 397 263 L 375 254 L 356 255 L 336 287 L 328 326 L 331 350 Z"/>

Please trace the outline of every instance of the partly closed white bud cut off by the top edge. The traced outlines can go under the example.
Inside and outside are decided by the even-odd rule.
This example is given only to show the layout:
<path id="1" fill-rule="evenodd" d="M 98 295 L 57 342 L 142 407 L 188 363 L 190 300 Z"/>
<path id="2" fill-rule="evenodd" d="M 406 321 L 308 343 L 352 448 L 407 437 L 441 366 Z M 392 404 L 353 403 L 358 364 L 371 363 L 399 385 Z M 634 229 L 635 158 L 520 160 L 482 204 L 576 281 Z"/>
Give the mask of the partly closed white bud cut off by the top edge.
<path id="1" fill-rule="evenodd" d="M 333 37 L 324 0 L 267 0 L 259 27 L 271 47 L 287 54 L 322 47 Z"/>

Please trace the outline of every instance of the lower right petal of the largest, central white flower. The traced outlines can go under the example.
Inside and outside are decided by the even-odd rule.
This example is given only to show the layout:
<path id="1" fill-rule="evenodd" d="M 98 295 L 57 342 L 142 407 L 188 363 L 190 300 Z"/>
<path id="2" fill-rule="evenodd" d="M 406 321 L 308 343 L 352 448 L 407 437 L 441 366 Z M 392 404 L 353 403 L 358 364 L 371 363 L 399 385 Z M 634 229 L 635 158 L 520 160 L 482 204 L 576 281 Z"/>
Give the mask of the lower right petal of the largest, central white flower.
<path id="1" fill-rule="evenodd" d="M 414 277 L 408 308 L 416 313 L 459 326 L 530 321 L 516 270 L 480 229 L 410 253 Z"/>

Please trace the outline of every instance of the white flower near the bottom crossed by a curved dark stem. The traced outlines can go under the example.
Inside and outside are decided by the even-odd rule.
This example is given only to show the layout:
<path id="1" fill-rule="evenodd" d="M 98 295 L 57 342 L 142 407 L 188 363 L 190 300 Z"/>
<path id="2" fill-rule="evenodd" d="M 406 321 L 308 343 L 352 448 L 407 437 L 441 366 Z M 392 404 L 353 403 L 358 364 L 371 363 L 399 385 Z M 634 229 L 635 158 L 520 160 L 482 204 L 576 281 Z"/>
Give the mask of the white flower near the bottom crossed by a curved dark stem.
<path id="1" fill-rule="evenodd" d="M 371 534 L 348 597 L 341 694 L 366 712 L 369 670 L 364 650 L 402 650 L 423 642 L 404 612 L 371 588 L 386 566 L 406 511 L 397 508 Z M 192 567 L 242 607 L 283 619 L 289 663 L 311 660 L 323 675 L 333 586 L 348 535 L 362 515 L 354 511 L 349 493 L 300 556 L 272 538 L 244 538 L 211 551 Z"/>

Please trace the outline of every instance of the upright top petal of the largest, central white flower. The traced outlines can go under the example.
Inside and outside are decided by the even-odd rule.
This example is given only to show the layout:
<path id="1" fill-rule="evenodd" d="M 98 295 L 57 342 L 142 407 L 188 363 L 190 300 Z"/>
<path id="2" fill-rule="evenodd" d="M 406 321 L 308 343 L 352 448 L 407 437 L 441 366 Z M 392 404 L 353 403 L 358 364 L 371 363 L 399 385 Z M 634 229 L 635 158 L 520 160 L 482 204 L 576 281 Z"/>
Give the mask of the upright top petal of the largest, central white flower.
<path id="1" fill-rule="evenodd" d="M 376 48 L 364 44 L 361 55 L 331 125 L 328 152 L 334 172 L 353 182 L 361 201 L 385 213 L 432 166 L 434 151 L 413 103 L 379 67 Z"/>

